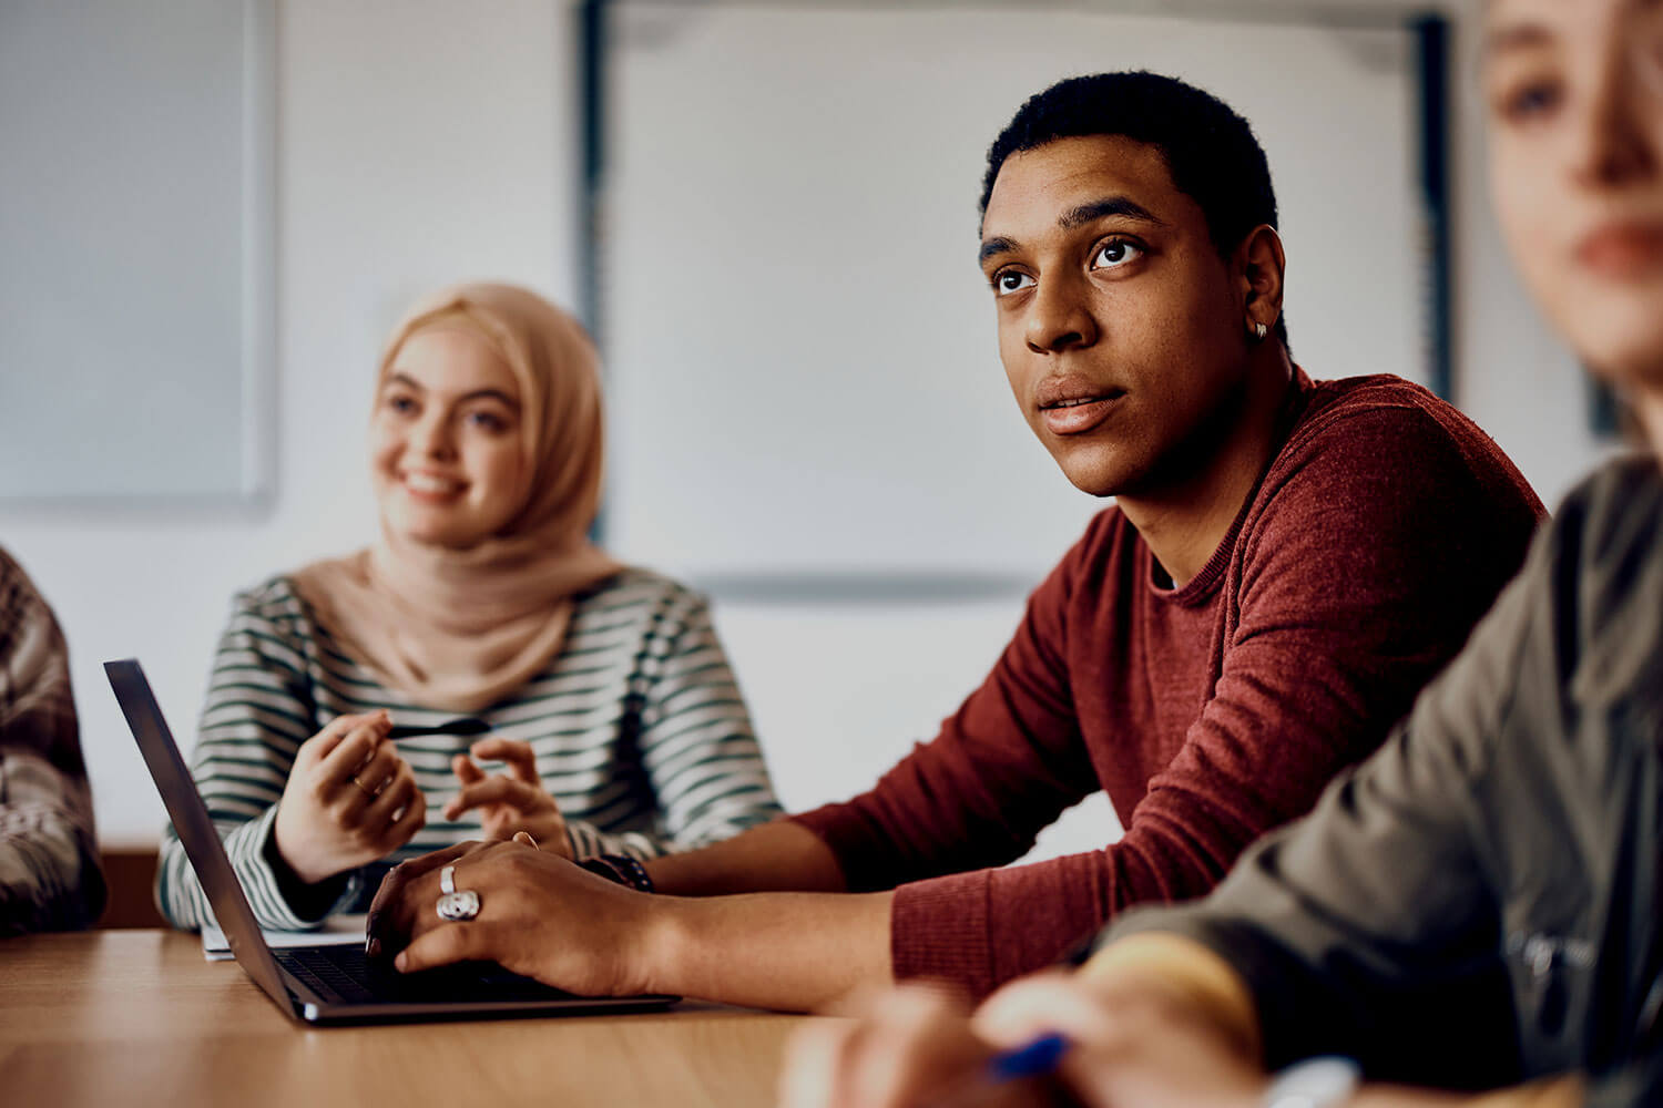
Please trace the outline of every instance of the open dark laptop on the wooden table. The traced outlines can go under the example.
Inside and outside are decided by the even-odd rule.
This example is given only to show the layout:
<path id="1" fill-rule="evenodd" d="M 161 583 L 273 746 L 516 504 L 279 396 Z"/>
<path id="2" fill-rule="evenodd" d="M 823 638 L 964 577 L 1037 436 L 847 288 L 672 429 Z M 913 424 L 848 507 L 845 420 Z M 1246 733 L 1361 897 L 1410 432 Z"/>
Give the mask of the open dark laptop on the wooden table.
<path id="1" fill-rule="evenodd" d="M 173 829 L 191 859 L 231 954 L 266 995 L 306 1023 L 392 1023 L 402 1020 L 477 1020 L 487 1017 L 654 1012 L 679 997 L 577 997 L 549 988 L 499 965 L 464 963 L 402 975 L 364 955 L 363 944 L 273 950 L 248 895 L 231 869 L 208 806 L 173 741 L 145 671 L 133 659 L 106 661 L 110 688 L 121 703 L 138 749 L 150 766 Z"/>

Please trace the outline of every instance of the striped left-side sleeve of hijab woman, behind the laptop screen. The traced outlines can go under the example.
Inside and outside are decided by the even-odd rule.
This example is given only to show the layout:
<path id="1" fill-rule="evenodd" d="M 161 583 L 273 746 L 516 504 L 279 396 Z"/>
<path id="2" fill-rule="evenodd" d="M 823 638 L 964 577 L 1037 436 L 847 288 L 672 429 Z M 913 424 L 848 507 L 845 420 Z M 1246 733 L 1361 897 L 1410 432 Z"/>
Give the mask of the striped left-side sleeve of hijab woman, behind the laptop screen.
<path id="1" fill-rule="evenodd" d="M 319 729 L 301 648 L 299 608 L 263 603 L 261 591 L 236 598 L 215 653 L 191 771 L 261 927 L 316 927 L 358 894 L 361 879 L 321 912 L 304 912 L 283 894 L 268 846 L 283 786 L 299 746 Z M 156 907 L 175 927 L 210 919 L 208 900 L 185 847 L 168 827 L 156 869 Z"/>

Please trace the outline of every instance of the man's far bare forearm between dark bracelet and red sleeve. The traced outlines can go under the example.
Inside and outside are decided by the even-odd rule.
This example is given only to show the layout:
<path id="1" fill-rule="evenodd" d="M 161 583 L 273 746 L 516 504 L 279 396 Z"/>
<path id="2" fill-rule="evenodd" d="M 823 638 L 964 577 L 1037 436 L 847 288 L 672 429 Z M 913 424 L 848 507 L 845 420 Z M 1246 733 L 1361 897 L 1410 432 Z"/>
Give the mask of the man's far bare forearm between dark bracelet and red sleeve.
<path id="1" fill-rule="evenodd" d="M 790 819 L 647 862 L 654 887 L 675 897 L 730 892 L 843 892 L 843 870 L 820 836 Z"/>

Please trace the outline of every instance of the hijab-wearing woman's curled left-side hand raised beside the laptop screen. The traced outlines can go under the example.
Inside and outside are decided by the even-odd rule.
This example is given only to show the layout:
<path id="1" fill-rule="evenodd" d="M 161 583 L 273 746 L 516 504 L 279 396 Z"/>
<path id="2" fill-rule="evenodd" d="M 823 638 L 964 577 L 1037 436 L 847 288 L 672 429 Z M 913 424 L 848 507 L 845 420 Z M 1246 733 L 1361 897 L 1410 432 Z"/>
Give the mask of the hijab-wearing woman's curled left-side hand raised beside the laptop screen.
<path id="1" fill-rule="evenodd" d="M 427 821 L 416 776 L 386 738 L 391 726 L 386 711 L 338 716 L 294 754 L 273 839 L 306 884 L 386 857 Z"/>

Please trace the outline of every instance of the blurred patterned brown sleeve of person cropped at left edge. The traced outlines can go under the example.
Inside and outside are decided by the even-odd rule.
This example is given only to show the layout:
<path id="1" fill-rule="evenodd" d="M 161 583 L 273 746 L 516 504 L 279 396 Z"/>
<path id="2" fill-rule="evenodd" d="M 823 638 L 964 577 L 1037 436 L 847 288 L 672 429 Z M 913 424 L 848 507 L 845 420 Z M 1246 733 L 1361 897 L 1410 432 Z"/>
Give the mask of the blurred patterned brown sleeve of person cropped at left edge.
<path id="1" fill-rule="evenodd" d="M 68 650 L 0 552 L 0 935 L 85 927 L 103 902 Z"/>

